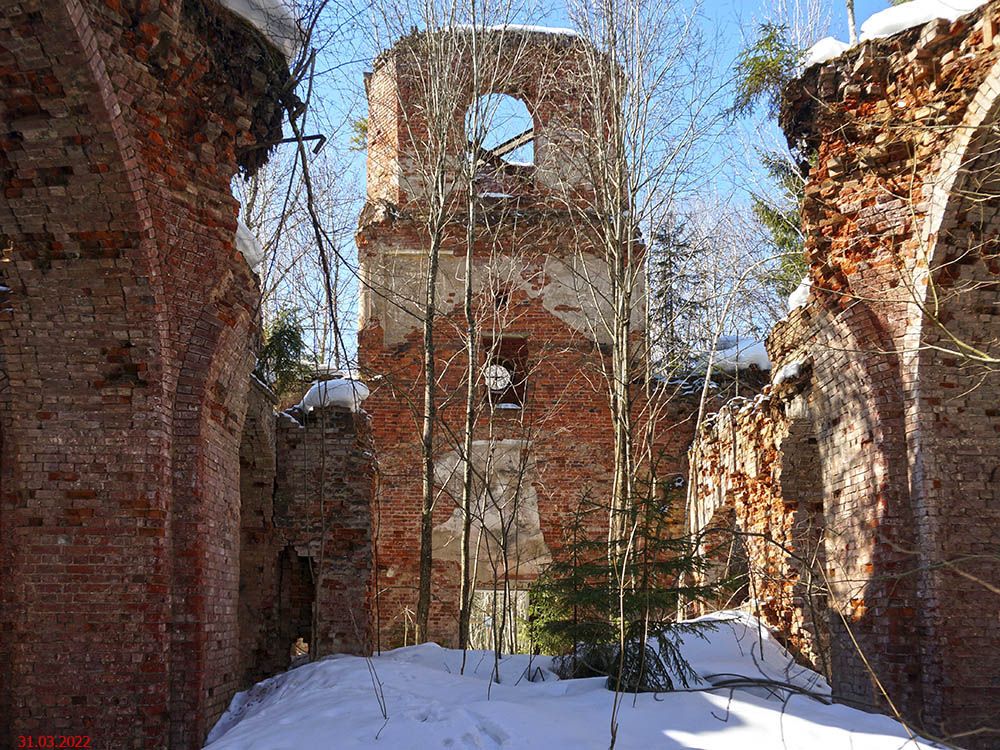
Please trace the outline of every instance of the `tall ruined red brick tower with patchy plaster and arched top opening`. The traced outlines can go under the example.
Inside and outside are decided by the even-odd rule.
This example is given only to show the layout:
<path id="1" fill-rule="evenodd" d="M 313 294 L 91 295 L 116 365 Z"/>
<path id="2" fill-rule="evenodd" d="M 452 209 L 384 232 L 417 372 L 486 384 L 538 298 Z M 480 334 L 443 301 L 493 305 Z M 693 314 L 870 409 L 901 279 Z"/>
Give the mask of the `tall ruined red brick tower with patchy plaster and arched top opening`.
<path id="1" fill-rule="evenodd" d="M 450 34 L 447 66 L 467 70 L 471 35 Z M 434 446 L 434 576 L 430 637 L 457 637 L 465 419 L 465 259 L 473 253 L 477 321 L 477 409 L 473 557 L 489 595 L 523 591 L 563 546 L 577 510 L 603 500 L 611 477 L 612 434 L 601 357 L 609 338 L 600 300 L 604 256 L 581 217 L 592 207 L 582 144 L 595 136 L 582 104 L 594 52 L 572 32 L 503 27 L 478 35 L 501 61 L 488 86 L 456 77 L 444 117 L 429 122 L 428 81 L 445 65 L 427 37 L 401 40 L 367 80 L 368 202 L 361 216 L 362 375 L 372 387 L 380 467 L 373 508 L 382 645 L 412 632 L 421 509 L 423 316 L 434 128 L 448 138 L 445 182 L 461 185 L 463 159 L 476 160 L 469 229 L 467 189 L 449 192 L 441 239 L 435 316 L 438 428 Z M 422 46 L 423 45 L 423 46 Z M 436 54 L 441 54 L 440 51 Z M 433 66 L 437 66 L 435 69 Z M 526 113 L 469 156 L 479 116 Z M 509 109 L 502 109 L 507 106 Z M 510 115 L 511 118 L 515 115 Z M 489 128 L 486 128 L 489 130 Z M 527 158 L 526 147 L 533 147 Z M 533 156 L 533 158 L 531 158 Z M 516 158 L 514 158 L 516 157 Z M 467 183 L 466 183 L 467 184 Z M 633 328 L 642 329 L 635 310 Z M 595 526 L 600 520 L 588 521 Z M 606 514 L 604 515 L 606 522 Z M 506 562 L 504 562 L 506 560 Z M 518 600 L 517 594 L 512 599 Z M 523 601 L 521 599 L 520 601 Z"/>

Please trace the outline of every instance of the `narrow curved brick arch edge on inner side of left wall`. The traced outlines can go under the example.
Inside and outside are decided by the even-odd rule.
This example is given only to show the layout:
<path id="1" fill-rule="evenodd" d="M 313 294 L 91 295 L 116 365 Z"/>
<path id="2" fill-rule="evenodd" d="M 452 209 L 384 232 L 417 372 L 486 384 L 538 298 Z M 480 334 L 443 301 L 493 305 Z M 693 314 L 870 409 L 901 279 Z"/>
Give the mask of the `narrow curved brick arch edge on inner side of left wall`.
<path id="1" fill-rule="evenodd" d="M 242 687 L 238 626 L 239 445 L 254 357 L 256 285 L 235 266 L 200 308 L 173 398 L 171 710 L 178 746 L 199 742 Z M 212 529 L 206 538 L 205 529 Z M 192 627 L 192 625 L 195 627 Z M 196 679 L 192 679 L 195 676 Z"/>

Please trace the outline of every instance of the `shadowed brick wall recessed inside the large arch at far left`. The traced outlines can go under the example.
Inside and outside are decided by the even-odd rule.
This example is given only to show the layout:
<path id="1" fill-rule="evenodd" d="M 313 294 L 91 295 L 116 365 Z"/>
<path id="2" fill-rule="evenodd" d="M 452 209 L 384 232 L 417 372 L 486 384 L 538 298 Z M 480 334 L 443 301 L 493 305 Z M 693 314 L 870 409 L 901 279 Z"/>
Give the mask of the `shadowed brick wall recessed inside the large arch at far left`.
<path id="1" fill-rule="evenodd" d="M 143 621 L 168 611 L 145 581 L 169 577 L 153 520 L 168 503 L 169 437 L 146 407 L 163 395 L 162 290 L 124 110 L 81 3 L 23 5 L 0 31 L 13 79 L 0 93 L 0 246 L 12 261 L 0 264 L 11 289 L 0 312 L 0 579 L 17 582 L 0 600 L 0 726 L 85 734 L 103 717 L 159 744 L 162 685 L 137 682 L 126 707 L 108 680 L 65 692 L 51 682 L 53 653 L 80 654 L 65 668 L 89 675 L 162 661 L 166 633 Z M 152 533 L 139 535 L 140 510 Z M 66 571 L 91 576 L 89 592 L 54 593 Z M 89 718 L 74 721 L 70 699 Z"/>

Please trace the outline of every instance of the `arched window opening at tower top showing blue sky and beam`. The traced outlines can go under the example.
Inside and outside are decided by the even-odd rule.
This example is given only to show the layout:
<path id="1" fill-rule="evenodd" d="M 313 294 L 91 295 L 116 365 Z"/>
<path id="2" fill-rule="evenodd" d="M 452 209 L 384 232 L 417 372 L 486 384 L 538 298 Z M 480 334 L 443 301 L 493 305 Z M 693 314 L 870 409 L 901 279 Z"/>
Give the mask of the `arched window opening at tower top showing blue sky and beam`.
<path id="1" fill-rule="evenodd" d="M 535 163 L 534 118 L 516 97 L 480 96 L 466 110 L 465 132 L 480 164 L 531 167 Z"/>

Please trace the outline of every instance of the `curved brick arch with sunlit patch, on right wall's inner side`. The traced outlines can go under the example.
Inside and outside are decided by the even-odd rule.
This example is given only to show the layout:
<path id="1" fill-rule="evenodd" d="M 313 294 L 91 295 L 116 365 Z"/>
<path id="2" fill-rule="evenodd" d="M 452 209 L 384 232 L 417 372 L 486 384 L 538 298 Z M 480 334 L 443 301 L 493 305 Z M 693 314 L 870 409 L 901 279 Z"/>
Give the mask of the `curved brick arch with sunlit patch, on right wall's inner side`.
<path id="1" fill-rule="evenodd" d="M 900 360 L 891 324 L 876 305 L 859 295 L 844 308 L 825 307 L 836 295 L 816 293 L 811 386 L 798 418 L 803 435 L 816 438 L 821 465 L 831 684 L 838 695 L 878 704 L 864 659 L 892 654 L 876 673 L 897 707 L 914 709 L 912 715 L 922 705 L 922 622 L 914 581 L 897 575 L 896 548 L 914 543 Z"/>

